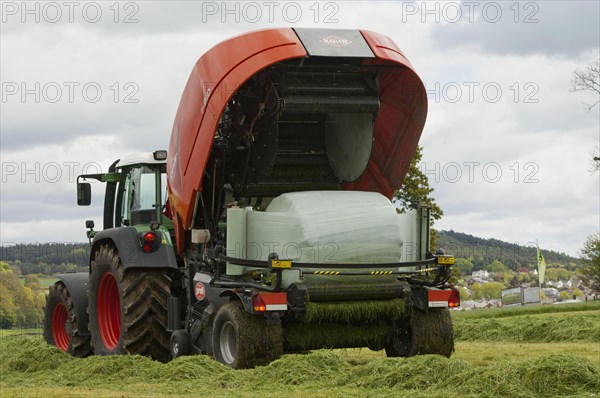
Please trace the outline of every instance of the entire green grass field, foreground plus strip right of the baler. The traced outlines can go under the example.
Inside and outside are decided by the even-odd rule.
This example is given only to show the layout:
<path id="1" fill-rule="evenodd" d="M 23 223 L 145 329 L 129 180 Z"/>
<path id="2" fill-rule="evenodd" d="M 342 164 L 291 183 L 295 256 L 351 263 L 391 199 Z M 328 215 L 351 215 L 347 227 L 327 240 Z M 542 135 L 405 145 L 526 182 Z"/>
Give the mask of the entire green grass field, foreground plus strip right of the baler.
<path id="1" fill-rule="evenodd" d="M 0 340 L 0 395 L 599 397 L 600 310 L 589 303 L 568 311 L 563 307 L 453 313 L 458 341 L 450 359 L 319 350 L 242 371 L 206 356 L 168 364 L 139 356 L 76 359 L 40 337 L 7 337 Z"/>

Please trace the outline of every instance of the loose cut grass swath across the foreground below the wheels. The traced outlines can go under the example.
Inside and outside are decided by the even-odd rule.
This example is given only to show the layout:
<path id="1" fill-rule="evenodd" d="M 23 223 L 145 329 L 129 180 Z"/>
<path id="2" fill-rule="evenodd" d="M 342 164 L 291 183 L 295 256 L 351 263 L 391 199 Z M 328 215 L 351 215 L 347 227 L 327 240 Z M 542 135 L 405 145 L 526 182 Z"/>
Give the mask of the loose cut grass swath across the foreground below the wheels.
<path id="1" fill-rule="evenodd" d="M 72 358 L 41 339 L 17 338 L 0 342 L 0 361 L 3 396 L 68 396 L 70 388 L 98 396 L 232 397 L 555 397 L 600 391 L 600 366 L 567 354 L 485 366 L 434 355 L 353 365 L 337 352 L 319 350 L 235 371 L 202 355 L 167 364 L 140 356 Z"/>

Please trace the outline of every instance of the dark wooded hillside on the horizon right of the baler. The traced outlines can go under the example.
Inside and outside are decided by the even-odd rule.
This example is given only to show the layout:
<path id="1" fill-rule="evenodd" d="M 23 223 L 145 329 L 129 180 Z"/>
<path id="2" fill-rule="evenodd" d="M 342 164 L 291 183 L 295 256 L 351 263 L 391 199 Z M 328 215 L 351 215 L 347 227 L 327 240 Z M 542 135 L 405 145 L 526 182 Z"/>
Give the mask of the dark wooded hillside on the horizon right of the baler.
<path id="1" fill-rule="evenodd" d="M 483 239 L 473 235 L 454 231 L 438 231 L 437 247 L 444 253 L 453 254 L 471 260 L 474 270 L 482 269 L 494 260 L 501 261 L 512 270 L 521 267 L 531 268 L 537 264 L 535 246 L 521 246 L 498 239 Z M 542 254 L 548 266 L 558 265 L 573 270 L 580 260 L 542 248 Z"/>

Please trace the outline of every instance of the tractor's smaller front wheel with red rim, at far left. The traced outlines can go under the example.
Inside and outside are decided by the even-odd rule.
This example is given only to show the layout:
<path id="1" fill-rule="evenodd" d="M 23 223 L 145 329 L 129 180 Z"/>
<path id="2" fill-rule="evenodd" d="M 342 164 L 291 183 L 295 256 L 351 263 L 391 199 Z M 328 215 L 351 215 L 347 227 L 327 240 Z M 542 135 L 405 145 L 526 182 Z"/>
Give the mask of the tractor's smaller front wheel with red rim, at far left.
<path id="1" fill-rule="evenodd" d="M 77 312 L 66 286 L 56 282 L 48 290 L 44 308 L 44 339 L 73 356 L 83 358 L 90 355 L 90 335 L 78 324 Z"/>

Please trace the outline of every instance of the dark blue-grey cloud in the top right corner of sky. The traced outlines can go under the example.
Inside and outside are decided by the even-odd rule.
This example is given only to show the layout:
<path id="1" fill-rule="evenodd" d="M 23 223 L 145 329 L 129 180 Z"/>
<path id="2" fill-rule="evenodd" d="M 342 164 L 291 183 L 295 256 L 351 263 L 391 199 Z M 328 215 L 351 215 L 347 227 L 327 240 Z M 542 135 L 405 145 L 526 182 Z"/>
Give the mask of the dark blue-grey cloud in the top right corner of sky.
<path id="1" fill-rule="evenodd" d="M 440 49 L 476 47 L 496 54 L 535 53 L 576 57 L 600 47 L 600 3 L 596 1 L 471 2 L 477 17 L 469 22 L 468 9 L 462 6 L 457 23 L 436 24 L 432 38 Z M 492 3 L 486 11 L 483 9 Z M 496 5 L 502 17 L 496 23 Z M 515 5 L 518 5 L 515 7 Z M 518 15 L 515 13 L 519 9 Z M 466 11 L 465 11 L 466 10 Z M 441 11 L 440 11 L 441 12 Z M 454 14 L 451 14 L 451 20 Z M 515 18 L 518 22 L 515 23 Z M 532 23 L 524 23 L 525 20 Z M 537 22 L 535 22 L 537 20 Z"/>

